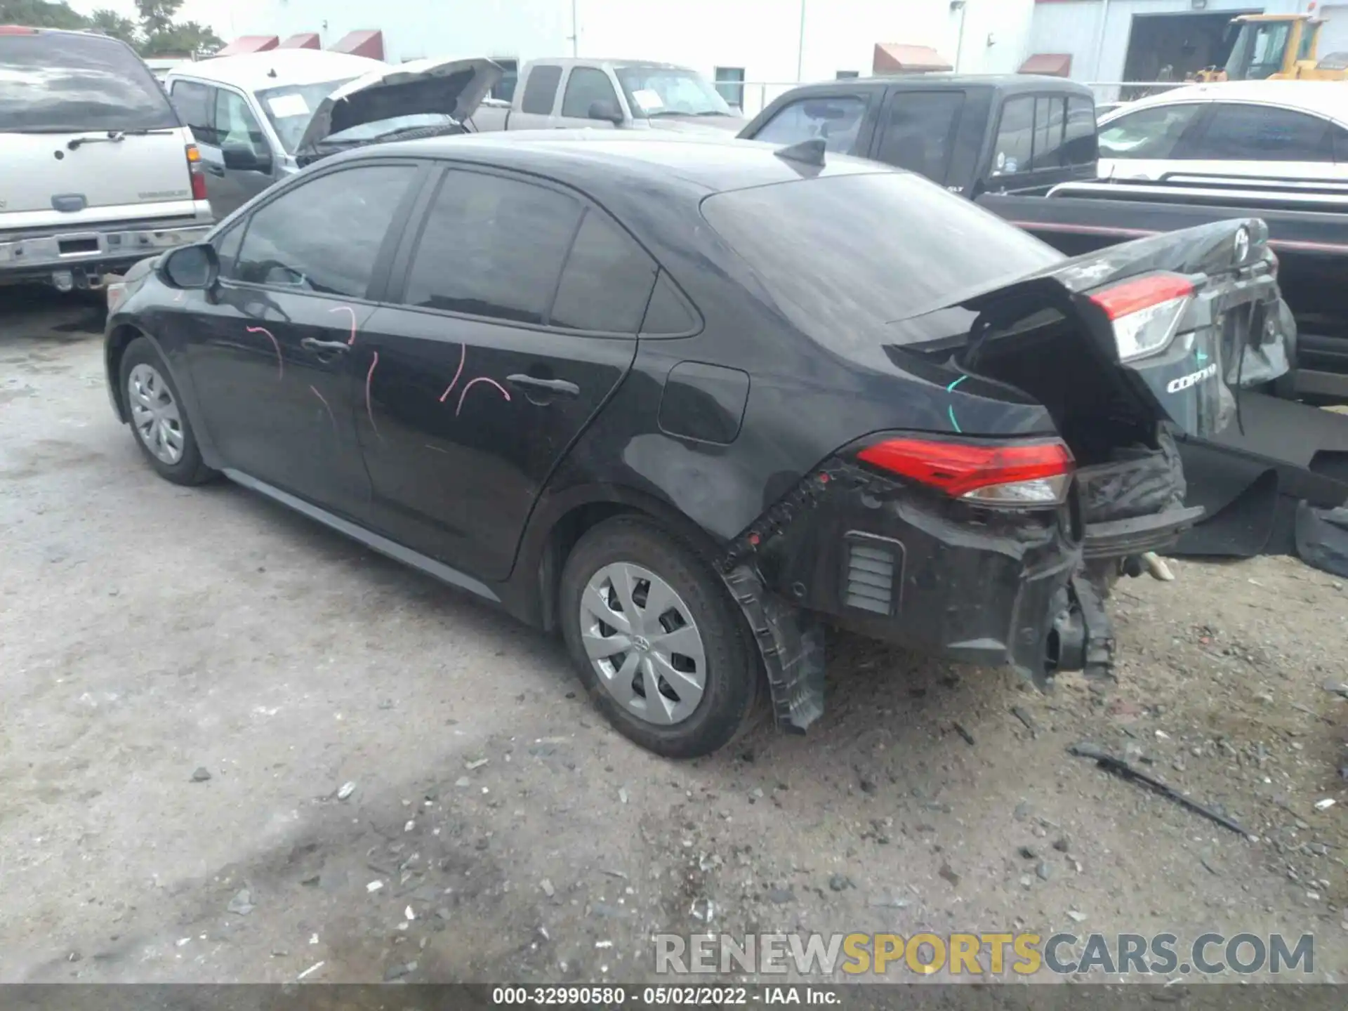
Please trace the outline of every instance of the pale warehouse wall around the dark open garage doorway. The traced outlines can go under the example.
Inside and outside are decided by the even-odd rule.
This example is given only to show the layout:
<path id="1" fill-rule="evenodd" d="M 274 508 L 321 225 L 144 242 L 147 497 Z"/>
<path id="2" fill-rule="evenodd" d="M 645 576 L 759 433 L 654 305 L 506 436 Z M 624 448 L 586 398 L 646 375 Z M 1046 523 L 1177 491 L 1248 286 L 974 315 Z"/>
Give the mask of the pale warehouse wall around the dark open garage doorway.
<path id="1" fill-rule="evenodd" d="M 1038 0 L 1030 28 L 1034 53 L 1070 53 L 1076 81 L 1122 81 L 1132 18 L 1139 13 L 1220 13 L 1258 11 L 1297 13 L 1306 0 Z"/>

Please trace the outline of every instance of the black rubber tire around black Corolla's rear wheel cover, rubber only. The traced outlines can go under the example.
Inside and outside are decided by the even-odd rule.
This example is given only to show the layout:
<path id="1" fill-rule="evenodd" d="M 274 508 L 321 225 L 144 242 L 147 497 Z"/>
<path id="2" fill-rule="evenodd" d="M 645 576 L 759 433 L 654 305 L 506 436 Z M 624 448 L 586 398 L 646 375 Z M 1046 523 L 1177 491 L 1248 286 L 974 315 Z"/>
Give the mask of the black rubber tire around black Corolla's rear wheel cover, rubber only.
<path id="1" fill-rule="evenodd" d="M 585 654 L 581 597 L 589 581 L 615 562 L 638 565 L 667 582 L 692 612 L 702 636 L 704 693 L 692 716 L 681 723 L 658 725 L 630 712 L 600 682 Z M 600 523 L 568 557 L 558 605 L 562 635 L 581 682 L 623 736 L 656 755 L 687 759 L 710 755 L 752 724 L 763 682 L 752 638 L 714 569 L 682 538 L 643 516 L 616 516 Z"/>

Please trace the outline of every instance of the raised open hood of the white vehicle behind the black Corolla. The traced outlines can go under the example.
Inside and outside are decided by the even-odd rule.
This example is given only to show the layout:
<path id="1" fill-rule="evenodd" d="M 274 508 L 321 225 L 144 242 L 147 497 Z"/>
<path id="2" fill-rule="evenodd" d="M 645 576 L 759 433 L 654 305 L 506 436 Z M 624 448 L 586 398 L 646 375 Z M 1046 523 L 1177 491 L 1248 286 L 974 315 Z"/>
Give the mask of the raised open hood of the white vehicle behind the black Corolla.
<path id="1" fill-rule="evenodd" d="M 458 123 L 473 115 L 503 70 L 489 59 L 414 59 L 348 81 L 314 111 L 298 152 L 365 123 L 415 113 L 441 113 Z"/>

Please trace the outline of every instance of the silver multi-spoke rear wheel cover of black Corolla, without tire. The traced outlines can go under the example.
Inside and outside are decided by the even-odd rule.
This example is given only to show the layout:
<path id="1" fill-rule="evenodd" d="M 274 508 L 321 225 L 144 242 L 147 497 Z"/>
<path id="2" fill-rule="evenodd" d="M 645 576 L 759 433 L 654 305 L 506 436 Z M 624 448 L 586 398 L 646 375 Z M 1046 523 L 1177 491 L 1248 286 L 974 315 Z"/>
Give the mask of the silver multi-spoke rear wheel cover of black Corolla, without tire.
<path id="1" fill-rule="evenodd" d="M 580 611 L 585 655 L 619 705 L 658 727 L 693 714 L 706 690 L 706 648 L 673 586 L 640 565 L 613 562 L 590 577 Z"/>

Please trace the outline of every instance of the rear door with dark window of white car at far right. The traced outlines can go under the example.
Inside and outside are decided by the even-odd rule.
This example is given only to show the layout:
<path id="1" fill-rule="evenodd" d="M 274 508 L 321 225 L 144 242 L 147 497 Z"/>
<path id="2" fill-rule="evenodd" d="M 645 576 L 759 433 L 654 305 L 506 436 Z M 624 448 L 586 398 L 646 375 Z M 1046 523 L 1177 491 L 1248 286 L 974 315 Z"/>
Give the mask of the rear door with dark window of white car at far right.
<path id="1" fill-rule="evenodd" d="M 1219 101 L 1178 146 L 1163 174 L 1332 181 L 1335 125 L 1321 116 L 1259 102 Z"/>

